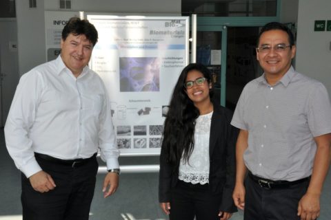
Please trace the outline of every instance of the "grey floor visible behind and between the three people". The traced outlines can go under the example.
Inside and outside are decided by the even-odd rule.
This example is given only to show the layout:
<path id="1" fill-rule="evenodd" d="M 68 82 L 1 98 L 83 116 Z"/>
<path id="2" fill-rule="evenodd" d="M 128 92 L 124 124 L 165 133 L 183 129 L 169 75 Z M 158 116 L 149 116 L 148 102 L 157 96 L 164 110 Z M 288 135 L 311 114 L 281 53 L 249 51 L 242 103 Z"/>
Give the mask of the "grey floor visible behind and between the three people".
<path id="1" fill-rule="evenodd" d="M 157 157 L 123 157 L 120 164 L 157 164 Z M 6 150 L 3 129 L 0 129 L 0 220 L 21 220 L 20 173 Z M 103 199 L 101 185 L 103 174 L 97 175 L 91 220 L 165 220 L 157 200 L 158 173 L 121 174 L 119 190 L 108 199 Z M 232 220 L 243 219 L 237 212 Z M 321 197 L 321 217 L 331 219 L 331 170 L 324 184 Z M 286 219 L 290 220 L 290 219 Z"/>

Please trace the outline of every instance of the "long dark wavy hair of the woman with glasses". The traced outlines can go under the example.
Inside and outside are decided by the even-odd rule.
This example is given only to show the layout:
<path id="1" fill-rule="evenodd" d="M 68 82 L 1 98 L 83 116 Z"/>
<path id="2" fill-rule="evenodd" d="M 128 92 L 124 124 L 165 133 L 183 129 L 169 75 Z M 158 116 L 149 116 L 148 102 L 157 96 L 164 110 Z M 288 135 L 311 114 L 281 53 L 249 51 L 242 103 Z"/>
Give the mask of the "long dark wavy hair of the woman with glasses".
<path id="1" fill-rule="evenodd" d="M 161 148 L 167 161 L 175 166 L 179 166 L 181 157 L 188 162 L 194 148 L 194 126 L 199 110 L 188 98 L 184 87 L 188 72 L 192 70 L 201 72 L 208 83 L 211 81 L 207 67 L 199 63 L 190 63 L 181 72 L 172 91 L 169 111 L 164 122 Z M 211 98 L 212 90 L 209 94 Z"/>

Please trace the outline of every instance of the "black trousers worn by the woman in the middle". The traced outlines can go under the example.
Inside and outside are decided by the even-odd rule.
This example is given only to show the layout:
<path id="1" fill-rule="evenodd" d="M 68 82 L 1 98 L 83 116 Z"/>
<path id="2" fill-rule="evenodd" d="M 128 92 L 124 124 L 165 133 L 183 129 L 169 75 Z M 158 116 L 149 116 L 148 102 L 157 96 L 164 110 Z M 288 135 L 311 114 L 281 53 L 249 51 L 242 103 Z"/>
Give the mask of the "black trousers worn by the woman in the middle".
<path id="1" fill-rule="evenodd" d="M 178 181 L 171 192 L 170 220 L 217 220 L 221 194 L 210 192 L 209 185 Z"/>

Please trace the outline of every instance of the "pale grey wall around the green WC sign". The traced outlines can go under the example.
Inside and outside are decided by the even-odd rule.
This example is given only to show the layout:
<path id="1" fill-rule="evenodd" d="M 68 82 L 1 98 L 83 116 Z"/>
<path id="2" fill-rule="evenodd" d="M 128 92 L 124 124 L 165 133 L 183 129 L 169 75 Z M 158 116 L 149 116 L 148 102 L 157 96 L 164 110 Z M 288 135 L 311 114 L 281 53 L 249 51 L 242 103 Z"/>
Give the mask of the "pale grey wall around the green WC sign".
<path id="1" fill-rule="evenodd" d="M 331 20 L 330 0 L 299 0 L 296 69 L 321 81 L 331 96 L 331 32 L 314 32 L 315 20 Z"/>

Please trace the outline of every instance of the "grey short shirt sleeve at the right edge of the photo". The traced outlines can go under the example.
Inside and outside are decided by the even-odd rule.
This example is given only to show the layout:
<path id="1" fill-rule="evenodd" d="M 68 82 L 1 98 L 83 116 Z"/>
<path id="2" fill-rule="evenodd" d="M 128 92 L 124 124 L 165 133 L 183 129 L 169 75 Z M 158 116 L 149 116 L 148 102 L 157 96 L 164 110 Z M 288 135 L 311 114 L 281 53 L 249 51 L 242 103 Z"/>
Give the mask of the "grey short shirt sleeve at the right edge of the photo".
<path id="1" fill-rule="evenodd" d="M 309 97 L 308 125 L 314 137 L 331 133 L 331 104 L 328 91 L 318 83 Z"/>

